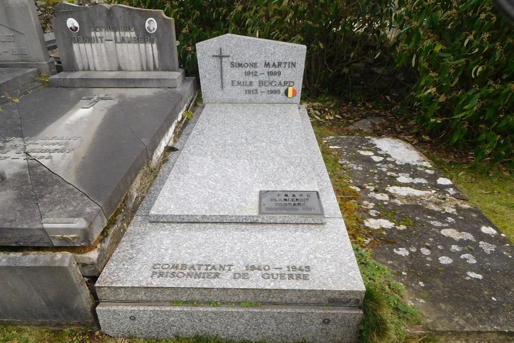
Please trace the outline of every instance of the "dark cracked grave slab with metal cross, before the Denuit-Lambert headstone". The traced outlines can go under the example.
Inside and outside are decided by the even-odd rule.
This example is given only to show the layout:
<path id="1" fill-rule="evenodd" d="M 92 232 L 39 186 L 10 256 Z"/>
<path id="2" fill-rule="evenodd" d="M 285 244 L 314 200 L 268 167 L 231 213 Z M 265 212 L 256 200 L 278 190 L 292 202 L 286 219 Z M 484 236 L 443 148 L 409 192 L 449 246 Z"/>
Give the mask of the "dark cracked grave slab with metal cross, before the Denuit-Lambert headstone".
<path id="1" fill-rule="evenodd" d="M 42 87 L 3 105 L 0 245 L 93 244 L 194 88 Z M 100 93 L 114 99 L 82 109 Z"/>

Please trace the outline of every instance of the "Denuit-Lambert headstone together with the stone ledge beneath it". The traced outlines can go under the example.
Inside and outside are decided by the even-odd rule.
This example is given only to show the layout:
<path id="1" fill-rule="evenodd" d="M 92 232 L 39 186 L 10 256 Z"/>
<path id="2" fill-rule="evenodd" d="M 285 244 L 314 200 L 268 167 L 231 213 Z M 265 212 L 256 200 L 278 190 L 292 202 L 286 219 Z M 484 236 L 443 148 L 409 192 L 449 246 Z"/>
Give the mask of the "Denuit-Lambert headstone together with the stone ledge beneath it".
<path id="1" fill-rule="evenodd" d="M 52 21 L 63 73 L 59 87 L 178 87 L 175 24 L 160 10 L 123 5 L 56 6 Z"/>

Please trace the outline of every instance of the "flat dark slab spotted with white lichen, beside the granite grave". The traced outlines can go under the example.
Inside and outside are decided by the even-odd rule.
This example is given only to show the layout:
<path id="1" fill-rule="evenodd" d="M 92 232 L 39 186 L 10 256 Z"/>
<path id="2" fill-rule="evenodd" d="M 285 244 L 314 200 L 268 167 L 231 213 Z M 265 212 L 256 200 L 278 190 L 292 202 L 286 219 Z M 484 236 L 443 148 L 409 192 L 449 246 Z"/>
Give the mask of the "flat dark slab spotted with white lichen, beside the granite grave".
<path id="1" fill-rule="evenodd" d="M 514 248 L 505 235 L 408 143 L 345 136 L 324 143 L 341 154 L 364 225 L 381 240 L 376 260 L 397 273 L 427 329 L 454 342 L 470 341 L 462 333 L 513 341 Z"/>

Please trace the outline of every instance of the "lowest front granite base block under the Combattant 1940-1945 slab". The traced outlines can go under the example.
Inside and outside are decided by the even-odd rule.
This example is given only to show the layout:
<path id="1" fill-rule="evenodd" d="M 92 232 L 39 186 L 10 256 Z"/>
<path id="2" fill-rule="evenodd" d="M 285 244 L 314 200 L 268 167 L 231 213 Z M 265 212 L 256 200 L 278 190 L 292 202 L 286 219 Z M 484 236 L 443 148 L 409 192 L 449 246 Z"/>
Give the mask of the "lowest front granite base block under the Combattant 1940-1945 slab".
<path id="1" fill-rule="evenodd" d="M 352 342 L 362 319 L 359 308 L 321 305 L 101 302 L 102 331 L 115 337 L 217 336 L 233 340 Z M 248 304 L 246 304 L 248 305 Z"/>

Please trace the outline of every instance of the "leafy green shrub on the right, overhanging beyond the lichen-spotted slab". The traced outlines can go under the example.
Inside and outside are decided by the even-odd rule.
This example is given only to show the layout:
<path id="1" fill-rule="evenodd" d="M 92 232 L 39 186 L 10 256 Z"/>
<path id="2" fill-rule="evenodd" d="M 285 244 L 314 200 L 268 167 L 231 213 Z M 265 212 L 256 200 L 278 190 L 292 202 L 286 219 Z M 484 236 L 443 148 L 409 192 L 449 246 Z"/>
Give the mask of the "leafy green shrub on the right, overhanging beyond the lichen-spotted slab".
<path id="1" fill-rule="evenodd" d="M 396 17 L 397 63 L 419 72 L 421 131 L 473 151 L 514 157 L 514 30 L 490 0 L 407 0 Z"/>

